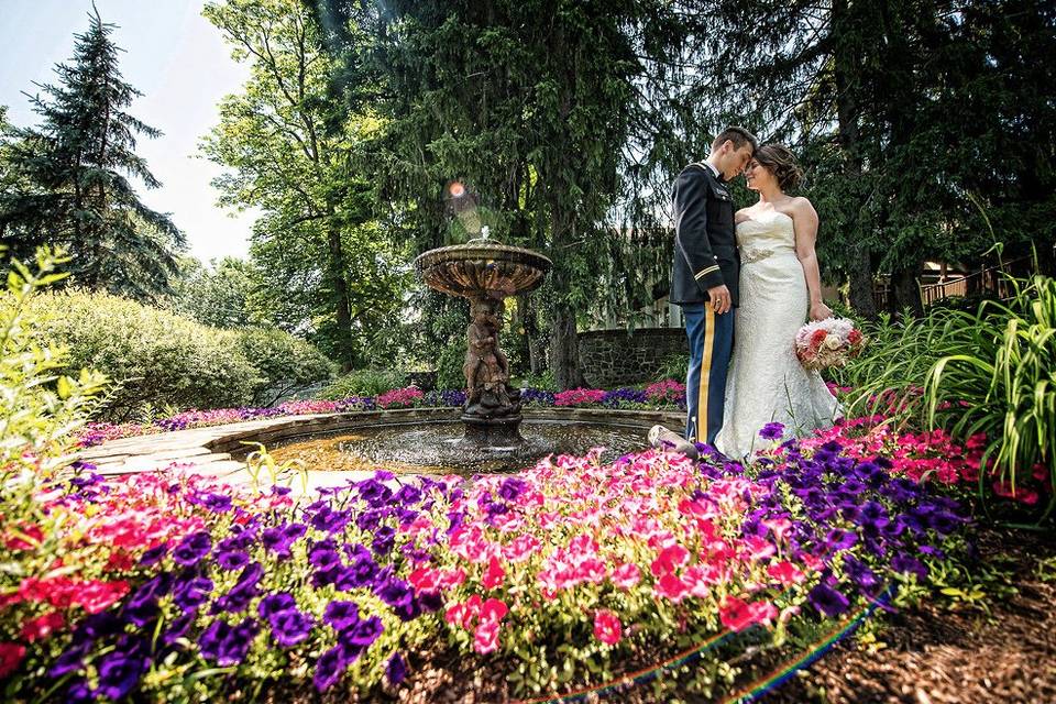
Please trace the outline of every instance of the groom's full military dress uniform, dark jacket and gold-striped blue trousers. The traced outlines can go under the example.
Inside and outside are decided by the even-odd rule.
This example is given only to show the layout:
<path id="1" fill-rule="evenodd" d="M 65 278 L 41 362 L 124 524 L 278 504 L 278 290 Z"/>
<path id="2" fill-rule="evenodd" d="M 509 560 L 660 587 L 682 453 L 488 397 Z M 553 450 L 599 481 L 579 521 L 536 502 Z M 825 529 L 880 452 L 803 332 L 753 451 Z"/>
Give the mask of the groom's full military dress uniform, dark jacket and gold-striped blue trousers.
<path id="1" fill-rule="evenodd" d="M 674 182 L 674 266 L 670 300 L 682 307 L 690 340 L 685 383 L 688 440 L 713 444 L 723 427 L 726 376 L 734 345 L 734 310 L 718 315 L 707 295 L 726 285 L 739 304 L 740 257 L 734 201 L 716 170 L 690 164 Z"/>

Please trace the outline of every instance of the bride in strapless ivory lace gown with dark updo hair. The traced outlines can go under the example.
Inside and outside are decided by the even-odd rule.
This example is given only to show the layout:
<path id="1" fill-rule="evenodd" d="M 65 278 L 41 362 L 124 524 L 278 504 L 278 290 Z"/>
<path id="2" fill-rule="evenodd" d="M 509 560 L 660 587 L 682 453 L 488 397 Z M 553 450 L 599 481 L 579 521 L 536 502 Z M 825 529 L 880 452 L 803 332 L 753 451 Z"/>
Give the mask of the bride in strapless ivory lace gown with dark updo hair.
<path id="1" fill-rule="evenodd" d="M 768 447 L 759 430 L 780 422 L 802 436 L 832 426 L 840 415 L 817 372 L 795 356 L 795 333 L 810 315 L 833 315 L 822 301 L 814 242 L 817 212 L 806 198 L 789 196 L 802 178 L 792 153 L 780 144 L 756 151 L 745 169 L 759 202 L 737 211 L 740 307 L 726 386 L 725 422 L 715 446 L 735 460 Z"/>

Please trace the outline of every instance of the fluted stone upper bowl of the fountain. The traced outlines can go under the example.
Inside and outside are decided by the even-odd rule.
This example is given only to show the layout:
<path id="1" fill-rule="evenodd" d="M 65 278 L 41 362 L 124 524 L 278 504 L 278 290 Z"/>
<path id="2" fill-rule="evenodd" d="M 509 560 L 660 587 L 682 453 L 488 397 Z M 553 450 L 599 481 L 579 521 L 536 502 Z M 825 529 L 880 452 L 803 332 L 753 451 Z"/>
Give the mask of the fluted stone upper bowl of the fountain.
<path id="1" fill-rule="evenodd" d="M 415 260 L 415 271 L 430 288 L 464 298 L 528 293 L 552 267 L 538 252 L 482 240 L 429 250 Z"/>

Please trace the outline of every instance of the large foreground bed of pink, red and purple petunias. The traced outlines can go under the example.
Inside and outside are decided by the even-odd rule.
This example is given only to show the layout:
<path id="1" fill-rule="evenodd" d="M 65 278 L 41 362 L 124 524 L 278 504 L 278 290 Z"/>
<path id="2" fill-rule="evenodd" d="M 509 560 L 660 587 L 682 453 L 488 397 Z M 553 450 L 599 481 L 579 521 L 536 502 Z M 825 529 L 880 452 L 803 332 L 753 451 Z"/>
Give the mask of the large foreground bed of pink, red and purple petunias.
<path id="1" fill-rule="evenodd" d="M 849 444 L 748 470 L 650 451 L 471 484 L 378 473 L 307 505 L 85 475 L 6 521 L 0 676 L 74 702 L 369 696 L 453 650 L 524 695 L 722 641 L 685 683 L 718 694 L 747 648 L 810 642 L 963 547 L 956 502 Z"/>

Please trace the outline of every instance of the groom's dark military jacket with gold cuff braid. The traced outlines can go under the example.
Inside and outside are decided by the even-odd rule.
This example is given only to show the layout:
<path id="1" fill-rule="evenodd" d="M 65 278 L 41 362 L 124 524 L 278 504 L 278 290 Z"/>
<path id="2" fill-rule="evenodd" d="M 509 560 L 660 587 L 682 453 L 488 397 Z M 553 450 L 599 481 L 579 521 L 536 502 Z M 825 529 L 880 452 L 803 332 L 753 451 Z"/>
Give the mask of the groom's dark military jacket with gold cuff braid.
<path id="1" fill-rule="evenodd" d="M 690 164 L 674 182 L 673 304 L 708 300 L 707 289 L 723 284 L 739 304 L 740 255 L 734 231 L 734 201 L 706 164 Z"/>

